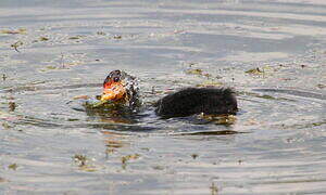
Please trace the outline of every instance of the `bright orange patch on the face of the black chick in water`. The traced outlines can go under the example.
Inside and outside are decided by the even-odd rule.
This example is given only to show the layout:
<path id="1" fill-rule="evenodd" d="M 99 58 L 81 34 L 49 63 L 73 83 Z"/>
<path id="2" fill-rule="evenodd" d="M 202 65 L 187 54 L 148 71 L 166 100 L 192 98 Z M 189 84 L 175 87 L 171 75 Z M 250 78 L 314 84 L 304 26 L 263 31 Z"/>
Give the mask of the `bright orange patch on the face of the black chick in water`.
<path id="1" fill-rule="evenodd" d="M 101 101 L 117 101 L 125 98 L 126 88 L 121 82 L 110 82 L 104 86 Z"/>

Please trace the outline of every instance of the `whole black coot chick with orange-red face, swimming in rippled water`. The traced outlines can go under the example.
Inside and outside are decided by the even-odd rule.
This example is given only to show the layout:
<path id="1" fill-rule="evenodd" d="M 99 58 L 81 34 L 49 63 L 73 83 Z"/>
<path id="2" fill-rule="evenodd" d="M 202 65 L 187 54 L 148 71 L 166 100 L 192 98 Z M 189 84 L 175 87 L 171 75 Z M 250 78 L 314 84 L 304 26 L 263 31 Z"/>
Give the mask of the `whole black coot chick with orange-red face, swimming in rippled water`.
<path id="1" fill-rule="evenodd" d="M 101 101 L 135 105 L 138 87 L 135 77 L 114 70 L 103 82 Z M 229 88 L 186 88 L 160 99 L 155 113 L 163 118 L 185 117 L 195 114 L 236 114 L 238 110 L 235 92 Z"/>

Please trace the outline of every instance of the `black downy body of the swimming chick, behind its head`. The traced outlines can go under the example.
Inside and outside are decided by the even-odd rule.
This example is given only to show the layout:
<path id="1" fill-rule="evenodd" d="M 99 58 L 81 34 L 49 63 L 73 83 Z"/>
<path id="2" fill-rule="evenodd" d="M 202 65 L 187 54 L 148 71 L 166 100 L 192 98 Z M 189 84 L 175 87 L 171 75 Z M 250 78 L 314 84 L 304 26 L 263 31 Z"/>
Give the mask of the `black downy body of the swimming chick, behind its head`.
<path id="1" fill-rule="evenodd" d="M 156 115 L 171 118 L 193 114 L 236 114 L 235 93 L 229 88 L 187 88 L 155 103 Z"/>

